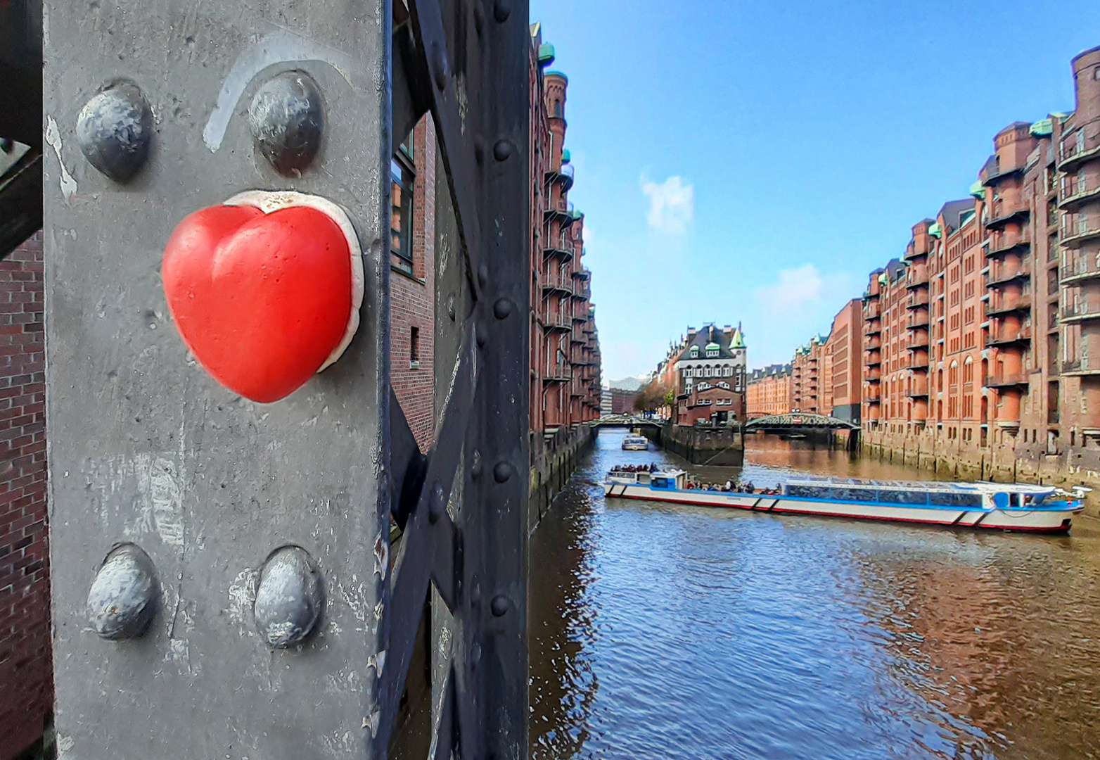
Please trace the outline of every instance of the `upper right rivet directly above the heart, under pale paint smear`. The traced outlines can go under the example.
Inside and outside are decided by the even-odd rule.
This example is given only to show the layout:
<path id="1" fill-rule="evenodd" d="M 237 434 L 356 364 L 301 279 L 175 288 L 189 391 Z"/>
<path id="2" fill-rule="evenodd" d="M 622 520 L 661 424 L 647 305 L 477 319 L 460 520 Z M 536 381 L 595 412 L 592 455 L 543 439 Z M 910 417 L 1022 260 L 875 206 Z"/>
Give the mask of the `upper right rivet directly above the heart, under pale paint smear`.
<path id="1" fill-rule="evenodd" d="M 283 71 L 252 97 L 249 129 L 260 152 L 283 175 L 300 175 L 321 146 L 324 115 L 317 82 L 305 71 Z"/>

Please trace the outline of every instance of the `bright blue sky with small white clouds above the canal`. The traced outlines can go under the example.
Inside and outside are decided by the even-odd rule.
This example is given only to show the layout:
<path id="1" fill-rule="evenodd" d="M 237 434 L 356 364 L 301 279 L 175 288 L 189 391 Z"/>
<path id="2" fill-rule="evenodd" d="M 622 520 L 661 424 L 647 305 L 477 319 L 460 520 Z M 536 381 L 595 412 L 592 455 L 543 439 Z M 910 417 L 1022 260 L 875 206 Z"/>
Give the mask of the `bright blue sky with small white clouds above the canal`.
<path id="1" fill-rule="evenodd" d="M 1054 12 L 1057 8 L 1057 12 Z M 688 324 L 750 367 L 826 332 L 993 135 L 1074 107 L 1100 2 L 531 0 L 569 76 L 604 377 Z"/>

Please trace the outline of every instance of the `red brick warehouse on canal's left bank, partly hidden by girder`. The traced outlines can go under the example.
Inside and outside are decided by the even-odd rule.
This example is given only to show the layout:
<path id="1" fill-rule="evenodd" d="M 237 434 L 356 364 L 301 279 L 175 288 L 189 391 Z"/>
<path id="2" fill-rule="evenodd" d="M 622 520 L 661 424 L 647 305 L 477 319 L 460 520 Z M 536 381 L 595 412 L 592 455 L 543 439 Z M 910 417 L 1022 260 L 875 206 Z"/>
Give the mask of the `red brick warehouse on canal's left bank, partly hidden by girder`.
<path id="1" fill-rule="evenodd" d="M 530 428 L 552 437 L 600 417 L 601 355 L 584 256 L 584 214 L 565 140 L 564 74 L 543 69 L 553 47 L 531 27 Z M 437 181 L 435 125 L 425 117 L 391 163 L 391 379 L 420 449 L 435 433 L 436 217 L 448 190 Z"/>

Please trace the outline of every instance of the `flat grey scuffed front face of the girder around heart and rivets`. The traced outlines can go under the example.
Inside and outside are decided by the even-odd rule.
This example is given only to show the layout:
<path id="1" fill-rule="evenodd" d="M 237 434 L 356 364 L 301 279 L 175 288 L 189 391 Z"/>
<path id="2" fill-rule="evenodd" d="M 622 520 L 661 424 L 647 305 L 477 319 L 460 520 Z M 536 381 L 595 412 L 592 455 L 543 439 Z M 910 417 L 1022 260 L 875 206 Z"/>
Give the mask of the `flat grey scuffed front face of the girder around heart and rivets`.
<path id="1" fill-rule="evenodd" d="M 369 758 L 389 580 L 388 5 L 46 5 L 57 746 L 116 760 Z M 255 152 L 245 118 L 255 89 L 290 69 L 318 82 L 328 117 L 320 155 L 295 178 Z M 125 184 L 95 168 L 76 136 L 81 107 L 120 79 L 154 114 L 148 161 Z M 346 353 L 274 404 L 196 364 L 160 276 L 185 216 L 255 188 L 349 209 L 366 269 Z M 141 638 L 108 641 L 87 599 L 119 542 L 148 554 L 163 599 Z M 273 650 L 253 602 L 265 559 L 286 546 L 316 560 L 327 601 L 312 638 Z"/>

